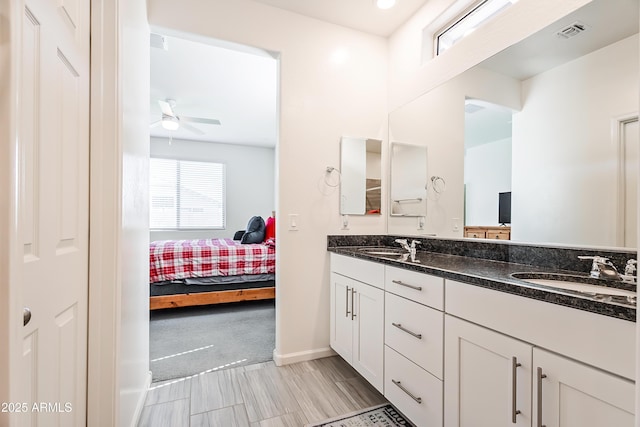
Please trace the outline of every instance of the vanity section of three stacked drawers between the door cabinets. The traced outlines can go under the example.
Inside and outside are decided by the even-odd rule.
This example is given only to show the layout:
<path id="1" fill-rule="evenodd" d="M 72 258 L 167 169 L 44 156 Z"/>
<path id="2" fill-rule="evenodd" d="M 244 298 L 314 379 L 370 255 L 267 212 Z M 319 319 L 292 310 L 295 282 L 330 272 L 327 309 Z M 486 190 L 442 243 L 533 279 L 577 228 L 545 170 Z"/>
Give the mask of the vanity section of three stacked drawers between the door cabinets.
<path id="1" fill-rule="evenodd" d="M 385 266 L 384 395 L 418 426 L 442 426 L 444 280 Z"/>

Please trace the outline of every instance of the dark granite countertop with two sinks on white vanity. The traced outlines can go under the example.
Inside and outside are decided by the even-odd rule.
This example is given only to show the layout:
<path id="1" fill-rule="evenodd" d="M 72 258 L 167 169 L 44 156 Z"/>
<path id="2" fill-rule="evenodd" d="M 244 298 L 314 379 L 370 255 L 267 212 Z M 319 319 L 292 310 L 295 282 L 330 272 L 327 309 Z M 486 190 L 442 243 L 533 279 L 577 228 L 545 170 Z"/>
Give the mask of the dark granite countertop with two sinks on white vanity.
<path id="1" fill-rule="evenodd" d="M 586 273 L 580 274 L 575 271 L 492 261 L 424 250 L 418 250 L 415 256 L 415 262 L 412 262 L 408 259 L 408 256 L 370 255 L 359 250 L 359 248 L 362 248 L 362 246 L 329 246 L 327 250 L 341 255 L 375 261 L 398 268 L 468 283 L 470 285 L 507 292 L 525 298 L 532 298 L 551 304 L 563 305 L 578 310 L 615 317 L 617 319 L 631 322 L 635 322 L 636 320 L 636 306 L 633 303 L 604 301 L 579 292 L 535 285 L 511 276 L 512 273 L 522 272 L 568 274 L 573 277 L 579 276 L 584 279 L 585 283 L 588 283 L 590 278 Z M 626 284 L 620 281 L 600 281 L 600 283 L 607 283 L 609 287 L 635 291 L 634 284 Z"/>

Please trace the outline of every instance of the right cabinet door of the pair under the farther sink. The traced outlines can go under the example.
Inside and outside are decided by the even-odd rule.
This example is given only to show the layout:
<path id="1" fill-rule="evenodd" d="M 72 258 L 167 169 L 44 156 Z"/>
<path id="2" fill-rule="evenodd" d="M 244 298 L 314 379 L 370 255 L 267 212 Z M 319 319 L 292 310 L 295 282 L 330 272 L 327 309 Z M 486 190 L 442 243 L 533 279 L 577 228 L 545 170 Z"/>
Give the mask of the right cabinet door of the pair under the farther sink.
<path id="1" fill-rule="evenodd" d="M 358 283 L 353 298 L 355 301 L 355 322 L 351 364 L 360 375 L 382 393 L 384 291 Z"/>

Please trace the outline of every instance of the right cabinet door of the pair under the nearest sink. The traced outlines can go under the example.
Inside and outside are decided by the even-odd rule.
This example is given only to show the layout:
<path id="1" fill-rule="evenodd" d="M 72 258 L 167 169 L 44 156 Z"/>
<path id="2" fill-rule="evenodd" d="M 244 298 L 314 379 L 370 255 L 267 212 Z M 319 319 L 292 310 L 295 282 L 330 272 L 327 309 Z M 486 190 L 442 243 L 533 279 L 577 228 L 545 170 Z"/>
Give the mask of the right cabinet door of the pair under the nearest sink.
<path id="1" fill-rule="evenodd" d="M 632 381 L 538 348 L 533 361 L 535 426 L 634 425 Z"/>

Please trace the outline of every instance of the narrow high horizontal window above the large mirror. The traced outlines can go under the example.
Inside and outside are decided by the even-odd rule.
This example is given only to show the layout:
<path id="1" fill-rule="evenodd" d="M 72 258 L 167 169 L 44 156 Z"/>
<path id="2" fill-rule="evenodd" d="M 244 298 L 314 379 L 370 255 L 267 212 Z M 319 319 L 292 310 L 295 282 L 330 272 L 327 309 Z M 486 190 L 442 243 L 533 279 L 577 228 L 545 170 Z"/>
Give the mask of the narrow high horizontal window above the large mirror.
<path id="1" fill-rule="evenodd" d="M 517 0 L 482 0 L 436 33 L 436 55 L 471 34 L 476 28 L 505 10 Z"/>

